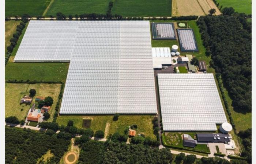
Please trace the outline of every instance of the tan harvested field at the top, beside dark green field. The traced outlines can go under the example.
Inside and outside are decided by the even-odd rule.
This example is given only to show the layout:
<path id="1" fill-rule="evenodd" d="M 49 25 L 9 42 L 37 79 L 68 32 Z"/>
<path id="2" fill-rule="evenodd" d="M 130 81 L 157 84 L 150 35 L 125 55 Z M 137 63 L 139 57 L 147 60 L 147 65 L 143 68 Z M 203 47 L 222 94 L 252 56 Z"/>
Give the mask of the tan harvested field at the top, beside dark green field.
<path id="1" fill-rule="evenodd" d="M 212 8 L 216 9 L 215 15 L 221 14 L 212 0 L 173 0 L 172 16 L 207 15 Z"/>

